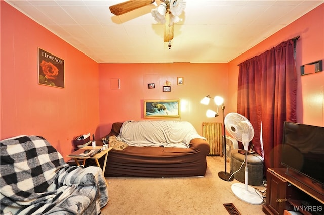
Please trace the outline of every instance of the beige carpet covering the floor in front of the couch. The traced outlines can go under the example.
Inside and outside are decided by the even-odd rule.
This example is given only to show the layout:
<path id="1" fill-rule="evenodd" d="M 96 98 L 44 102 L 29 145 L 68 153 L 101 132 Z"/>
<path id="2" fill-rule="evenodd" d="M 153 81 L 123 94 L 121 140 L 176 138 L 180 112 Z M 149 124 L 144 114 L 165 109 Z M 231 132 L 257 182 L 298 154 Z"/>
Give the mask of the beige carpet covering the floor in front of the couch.
<path id="1" fill-rule="evenodd" d="M 106 177 L 109 202 L 101 214 L 229 214 L 224 203 L 233 203 L 241 214 L 264 214 L 261 205 L 238 199 L 231 183 L 218 177 L 223 157 L 207 157 L 205 177 L 119 178 Z M 230 163 L 227 163 L 230 170 Z M 264 187 L 257 187 L 263 190 Z"/>

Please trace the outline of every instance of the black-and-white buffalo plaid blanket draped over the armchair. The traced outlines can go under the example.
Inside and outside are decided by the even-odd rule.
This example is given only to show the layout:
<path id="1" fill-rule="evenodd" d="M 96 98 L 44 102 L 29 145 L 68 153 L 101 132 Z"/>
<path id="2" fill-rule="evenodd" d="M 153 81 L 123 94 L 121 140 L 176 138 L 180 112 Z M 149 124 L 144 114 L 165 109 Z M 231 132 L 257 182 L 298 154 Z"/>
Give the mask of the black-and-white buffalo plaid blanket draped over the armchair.
<path id="1" fill-rule="evenodd" d="M 0 141 L 1 214 L 100 214 L 108 203 L 99 167 L 69 166 L 48 141 Z"/>

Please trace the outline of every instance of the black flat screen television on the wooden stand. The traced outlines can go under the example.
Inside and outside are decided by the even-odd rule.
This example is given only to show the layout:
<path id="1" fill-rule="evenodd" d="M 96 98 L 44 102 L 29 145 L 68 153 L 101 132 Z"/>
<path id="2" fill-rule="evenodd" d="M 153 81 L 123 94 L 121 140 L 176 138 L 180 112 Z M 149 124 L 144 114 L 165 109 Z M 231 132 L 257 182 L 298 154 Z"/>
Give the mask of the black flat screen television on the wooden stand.
<path id="1" fill-rule="evenodd" d="M 324 127 L 284 122 L 281 164 L 324 187 Z M 298 180 L 298 178 L 297 178 Z M 307 185 L 307 184 L 306 184 Z"/>

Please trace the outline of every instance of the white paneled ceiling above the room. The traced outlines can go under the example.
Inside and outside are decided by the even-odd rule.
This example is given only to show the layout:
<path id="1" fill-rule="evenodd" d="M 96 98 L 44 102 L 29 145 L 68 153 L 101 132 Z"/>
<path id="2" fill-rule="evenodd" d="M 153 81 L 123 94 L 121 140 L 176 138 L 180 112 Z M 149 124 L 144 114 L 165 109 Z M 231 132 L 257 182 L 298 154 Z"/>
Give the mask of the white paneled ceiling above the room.
<path id="1" fill-rule="evenodd" d="M 160 1 L 120 16 L 109 6 L 125 0 L 5 1 L 98 63 L 229 62 L 324 2 L 186 0 L 169 49 Z"/>

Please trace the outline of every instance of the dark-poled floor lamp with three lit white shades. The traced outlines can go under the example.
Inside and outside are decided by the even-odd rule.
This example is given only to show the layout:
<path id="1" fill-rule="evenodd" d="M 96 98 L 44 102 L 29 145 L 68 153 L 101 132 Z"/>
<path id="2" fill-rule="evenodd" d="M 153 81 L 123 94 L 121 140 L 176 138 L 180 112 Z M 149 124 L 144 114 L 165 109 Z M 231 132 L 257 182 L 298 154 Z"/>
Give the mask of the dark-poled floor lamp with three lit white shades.
<path id="1" fill-rule="evenodd" d="M 208 95 L 205 98 L 203 98 L 203 100 L 201 100 L 200 103 L 207 105 L 207 104 L 209 104 L 210 99 L 211 99 L 211 97 Z M 217 112 L 212 111 L 212 110 L 207 110 L 206 116 L 207 117 L 217 117 L 218 116 L 218 108 L 220 105 L 222 105 L 221 108 L 222 108 L 222 112 L 223 112 L 223 126 L 224 126 L 223 127 L 223 129 L 224 129 L 223 149 L 224 149 L 224 159 L 225 159 L 225 171 L 218 172 L 218 177 L 223 179 L 224 181 L 233 181 L 234 179 L 230 177 L 231 175 L 229 173 L 227 173 L 227 167 L 226 167 L 227 155 L 226 155 L 226 129 L 225 129 L 224 99 L 220 96 L 215 96 L 213 99 L 215 101 L 215 104 L 217 105 Z"/>

